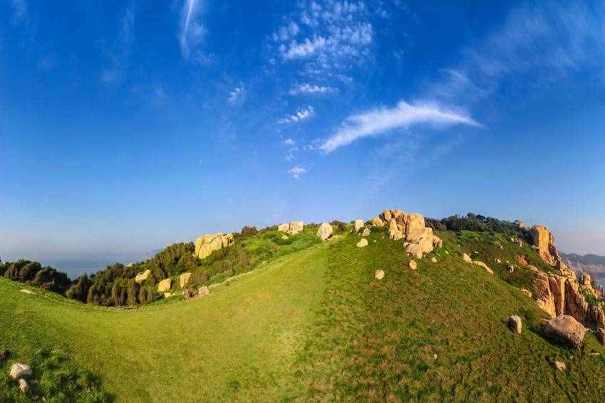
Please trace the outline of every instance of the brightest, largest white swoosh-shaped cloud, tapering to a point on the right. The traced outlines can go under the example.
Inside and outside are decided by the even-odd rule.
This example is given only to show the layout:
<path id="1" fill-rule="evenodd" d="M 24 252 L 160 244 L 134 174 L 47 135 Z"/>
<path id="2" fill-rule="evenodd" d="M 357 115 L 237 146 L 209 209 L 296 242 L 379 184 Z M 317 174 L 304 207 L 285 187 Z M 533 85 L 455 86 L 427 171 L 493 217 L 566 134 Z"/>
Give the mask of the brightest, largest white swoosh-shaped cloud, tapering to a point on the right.
<path id="1" fill-rule="evenodd" d="M 438 128 L 453 125 L 481 126 L 464 112 L 443 108 L 435 103 L 410 104 L 402 100 L 395 108 L 378 108 L 347 117 L 336 133 L 325 140 L 320 148 L 329 153 L 363 137 L 380 135 L 395 129 L 408 129 L 414 125 Z"/>

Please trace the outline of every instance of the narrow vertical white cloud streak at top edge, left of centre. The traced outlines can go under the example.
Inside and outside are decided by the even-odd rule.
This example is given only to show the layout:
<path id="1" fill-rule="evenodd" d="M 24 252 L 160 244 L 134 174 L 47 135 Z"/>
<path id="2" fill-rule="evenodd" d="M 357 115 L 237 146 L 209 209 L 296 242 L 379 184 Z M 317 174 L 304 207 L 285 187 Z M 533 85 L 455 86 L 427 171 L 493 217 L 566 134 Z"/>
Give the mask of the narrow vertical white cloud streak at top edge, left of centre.
<path id="1" fill-rule="evenodd" d="M 202 23 L 203 4 L 200 0 L 184 0 L 181 7 L 181 23 L 179 30 L 179 41 L 183 58 L 189 59 L 192 53 L 195 53 L 196 60 L 200 58 L 200 51 L 196 51 L 200 45 L 206 28 Z M 202 61 L 206 58 L 201 54 Z"/>

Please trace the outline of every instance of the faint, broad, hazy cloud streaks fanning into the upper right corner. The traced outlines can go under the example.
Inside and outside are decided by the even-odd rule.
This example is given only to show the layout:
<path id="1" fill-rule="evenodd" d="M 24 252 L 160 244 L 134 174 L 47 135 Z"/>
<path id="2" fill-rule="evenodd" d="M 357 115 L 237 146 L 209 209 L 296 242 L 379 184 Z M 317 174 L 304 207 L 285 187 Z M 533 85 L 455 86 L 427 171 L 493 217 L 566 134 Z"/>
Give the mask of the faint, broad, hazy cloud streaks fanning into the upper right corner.
<path id="1" fill-rule="evenodd" d="M 448 102 L 478 102 L 503 85 L 533 91 L 573 73 L 602 77 L 604 61 L 604 3 L 525 4 L 513 9 L 501 28 L 465 48 L 460 63 L 443 70 L 429 93 Z"/>

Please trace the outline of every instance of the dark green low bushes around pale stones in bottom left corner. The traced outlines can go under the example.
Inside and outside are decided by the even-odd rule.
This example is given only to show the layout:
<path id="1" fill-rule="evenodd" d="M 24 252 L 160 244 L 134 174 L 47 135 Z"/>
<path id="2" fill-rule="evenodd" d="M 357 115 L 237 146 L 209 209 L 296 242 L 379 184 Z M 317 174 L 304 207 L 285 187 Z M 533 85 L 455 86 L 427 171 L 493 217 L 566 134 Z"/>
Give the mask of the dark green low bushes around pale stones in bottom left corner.
<path id="1" fill-rule="evenodd" d="M 17 357 L 0 362 L 2 374 Z M 58 351 L 37 350 L 30 357 L 31 377 L 26 380 L 29 392 L 25 396 L 19 390 L 19 384 L 6 376 L 0 376 L 0 402 L 113 402 L 113 397 L 103 390 L 97 377 L 91 372 L 79 370 L 67 357 Z"/>

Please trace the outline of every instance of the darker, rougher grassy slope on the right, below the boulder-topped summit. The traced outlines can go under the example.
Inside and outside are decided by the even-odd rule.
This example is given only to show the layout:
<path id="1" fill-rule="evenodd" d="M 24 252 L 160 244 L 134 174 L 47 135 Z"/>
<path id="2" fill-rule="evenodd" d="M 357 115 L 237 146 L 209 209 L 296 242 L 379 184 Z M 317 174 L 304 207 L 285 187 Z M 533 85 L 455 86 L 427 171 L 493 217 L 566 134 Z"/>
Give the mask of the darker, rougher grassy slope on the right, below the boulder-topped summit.
<path id="1" fill-rule="evenodd" d="M 373 234 L 368 248 L 356 248 L 353 236 L 331 247 L 323 313 L 297 363 L 306 390 L 298 397 L 601 399 L 605 350 L 594 335 L 586 335 L 578 353 L 552 345 L 540 335 L 544 313 L 532 300 L 462 263 L 459 254 L 483 248 L 487 262 L 490 255 L 504 260 L 531 249 L 504 240 L 503 250 L 492 247 L 488 234 L 440 235 L 450 253 L 432 253 L 417 271 L 408 268 L 403 245 L 383 234 Z M 376 268 L 386 272 L 383 281 L 373 279 Z M 523 318 L 522 335 L 507 330 L 512 314 Z M 554 360 L 566 362 L 568 371 L 554 370 Z"/>

